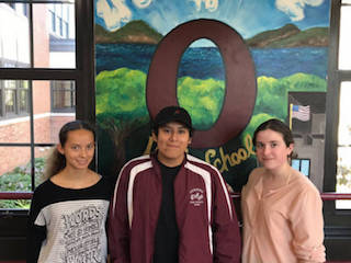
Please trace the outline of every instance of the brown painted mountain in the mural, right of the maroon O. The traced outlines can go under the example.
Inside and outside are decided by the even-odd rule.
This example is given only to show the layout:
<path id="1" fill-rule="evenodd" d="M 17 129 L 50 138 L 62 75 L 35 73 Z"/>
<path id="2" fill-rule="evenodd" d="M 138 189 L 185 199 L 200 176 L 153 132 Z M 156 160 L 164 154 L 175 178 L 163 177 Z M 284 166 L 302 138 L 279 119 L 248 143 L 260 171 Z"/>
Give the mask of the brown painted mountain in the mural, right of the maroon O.
<path id="1" fill-rule="evenodd" d="M 246 43 L 256 48 L 328 46 L 328 27 L 301 31 L 296 25 L 286 24 L 278 30 L 259 33 L 246 39 Z"/>

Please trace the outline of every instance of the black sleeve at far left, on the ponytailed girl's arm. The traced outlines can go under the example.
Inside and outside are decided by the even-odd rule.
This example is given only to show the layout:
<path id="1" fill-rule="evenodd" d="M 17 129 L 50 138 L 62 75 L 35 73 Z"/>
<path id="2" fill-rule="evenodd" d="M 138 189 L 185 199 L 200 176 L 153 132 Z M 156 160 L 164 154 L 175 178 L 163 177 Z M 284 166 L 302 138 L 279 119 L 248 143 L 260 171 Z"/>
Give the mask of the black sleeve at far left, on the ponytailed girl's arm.
<path id="1" fill-rule="evenodd" d="M 46 239 L 46 227 L 35 224 L 39 216 L 41 207 L 38 197 L 34 193 L 27 220 L 26 262 L 36 263 L 43 241 Z"/>

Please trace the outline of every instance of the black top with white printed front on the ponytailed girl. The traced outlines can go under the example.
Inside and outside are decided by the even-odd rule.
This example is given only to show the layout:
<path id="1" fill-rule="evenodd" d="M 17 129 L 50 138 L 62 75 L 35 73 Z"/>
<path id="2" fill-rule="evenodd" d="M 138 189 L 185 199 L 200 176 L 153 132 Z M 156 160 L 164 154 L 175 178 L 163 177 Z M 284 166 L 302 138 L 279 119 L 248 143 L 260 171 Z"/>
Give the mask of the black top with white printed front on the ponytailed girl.
<path id="1" fill-rule="evenodd" d="M 29 218 L 27 262 L 106 262 L 112 186 L 104 176 L 80 190 L 50 180 L 39 185 Z"/>

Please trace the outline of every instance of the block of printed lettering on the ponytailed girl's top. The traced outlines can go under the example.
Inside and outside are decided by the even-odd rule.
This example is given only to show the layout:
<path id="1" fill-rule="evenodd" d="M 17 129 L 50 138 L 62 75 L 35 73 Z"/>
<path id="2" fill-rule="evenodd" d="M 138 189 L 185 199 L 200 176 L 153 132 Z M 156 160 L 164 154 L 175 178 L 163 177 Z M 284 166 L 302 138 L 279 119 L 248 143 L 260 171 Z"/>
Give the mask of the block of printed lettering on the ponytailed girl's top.
<path id="1" fill-rule="evenodd" d="M 104 207 L 89 205 L 63 215 L 61 259 L 67 263 L 102 262 L 100 237 L 103 231 Z"/>

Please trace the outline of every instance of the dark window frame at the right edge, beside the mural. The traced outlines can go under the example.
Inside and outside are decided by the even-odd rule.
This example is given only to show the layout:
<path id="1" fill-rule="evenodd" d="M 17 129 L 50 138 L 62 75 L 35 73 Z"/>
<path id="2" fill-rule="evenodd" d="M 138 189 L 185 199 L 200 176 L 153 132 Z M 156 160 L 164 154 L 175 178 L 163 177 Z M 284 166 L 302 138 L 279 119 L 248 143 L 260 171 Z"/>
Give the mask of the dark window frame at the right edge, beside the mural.
<path id="1" fill-rule="evenodd" d="M 351 81 L 351 70 L 339 69 L 341 0 L 332 0 L 330 4 L 326 123 L 332 125 L 326 125 L 324 192 L 336 192 L 340 88 L 342 81 Z M 324 215 L 326 237 L 331 237 L 331 240 L 350 239 L 351 209 L 336 209 L 336 201 L 328 201 L 324 204 Z"/>

